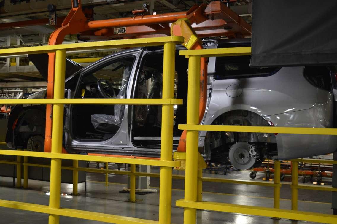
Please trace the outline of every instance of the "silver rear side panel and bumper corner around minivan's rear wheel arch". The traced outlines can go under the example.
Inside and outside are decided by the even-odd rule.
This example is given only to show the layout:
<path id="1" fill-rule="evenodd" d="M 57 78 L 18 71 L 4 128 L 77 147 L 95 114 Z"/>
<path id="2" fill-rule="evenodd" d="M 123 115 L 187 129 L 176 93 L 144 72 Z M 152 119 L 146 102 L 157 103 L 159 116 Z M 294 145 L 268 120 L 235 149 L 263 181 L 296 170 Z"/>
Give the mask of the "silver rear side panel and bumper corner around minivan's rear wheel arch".
<path id="1" fill-rule="evenodd" d="M 332 128 L 333 93 L 311 85 L 303 70 L 304 67 L 283 67 L 269 76 L 211 80 L 211 97 L 202 124 L 209 125 L 228 111 L 247 110 L 274 126 Z M 205 136 L 206 131 L 201 131 L 200 148 L 204 147 Z M 278 159 L 323 155 L 337 146 L 334 135 L 275 136 Z"/>

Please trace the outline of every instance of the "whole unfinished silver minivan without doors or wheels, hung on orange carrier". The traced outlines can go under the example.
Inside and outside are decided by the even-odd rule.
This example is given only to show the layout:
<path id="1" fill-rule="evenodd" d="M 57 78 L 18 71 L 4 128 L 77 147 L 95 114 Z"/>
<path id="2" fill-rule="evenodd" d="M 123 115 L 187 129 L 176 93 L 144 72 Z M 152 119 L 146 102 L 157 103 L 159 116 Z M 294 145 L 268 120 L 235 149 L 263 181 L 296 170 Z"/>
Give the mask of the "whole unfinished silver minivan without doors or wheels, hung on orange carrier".
<path id="1" fill-rule="evenodd" d="M 204 46 L 250 46 L 250 40 L 204 40 Z M 179 56 L 183 49 L 177 46 L 175 97 L 183 99 L 183 105 L 175 106 L 174 150 L 182 133 L 178 124 L 186 123 L 188 61 Z M 249 62 L 250 56 L 209 58 L 207 106 L 201 124 L 335 126 L 334 66 L 250 68 Z M 162 67 L 162 47 L 121 51 L 85 68 L 67 61 L 65 98 L 161 98 Z M 30 98 L 44 98 L 45 93 Z M 45 105 L 18 105 L 9 118 L 7 145 L 43 151 L 44 128 Z M 156 157 L 160 134 L 158 105 L 65 105 L 63 145 L 69 153 Z M 334 135 L 199 132 L 199 152 L 205 159 L 229 160 L 239 169 L 259 166 L 265 158 L 332 153 L 336 146 Z"/>

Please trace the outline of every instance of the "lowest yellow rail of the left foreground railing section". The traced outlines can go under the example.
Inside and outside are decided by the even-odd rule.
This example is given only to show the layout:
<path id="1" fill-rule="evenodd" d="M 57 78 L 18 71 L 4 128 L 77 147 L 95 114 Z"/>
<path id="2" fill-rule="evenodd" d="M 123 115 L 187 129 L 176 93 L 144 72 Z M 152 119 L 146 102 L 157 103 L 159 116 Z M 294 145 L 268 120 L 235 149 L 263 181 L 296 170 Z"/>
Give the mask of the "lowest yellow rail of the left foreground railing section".
<path id="1" fill-rule="evenodd" d="M 155 223 L 158 223 L 157 221 L 153 221 L 153 220 L 137 219 L 137 218 L 110 215 L 110 214 L 104 214 L 104 213 L 98 213 L 98 212 L 89 212 L 89 211 L 83 211 L 83 210 L 50 209 L 48 205 L 32 204 L 32 203 L 25 203 L 25 202 L 18 202 L 18 201 L 0 200 L 0 206 L 11 208 L 11 209 L 21 209 L 21 210 L 26 210 L 26 211 L 31 211 L 31 212 L 68 216 L 72 218 L 88 219 L 88 220 L 108 222 L 108 223 L 120 223 L 120 224 L 129 224 L 129 223 L 131 224 L 141 224 L 141 223 L 155 224 Z"/>

